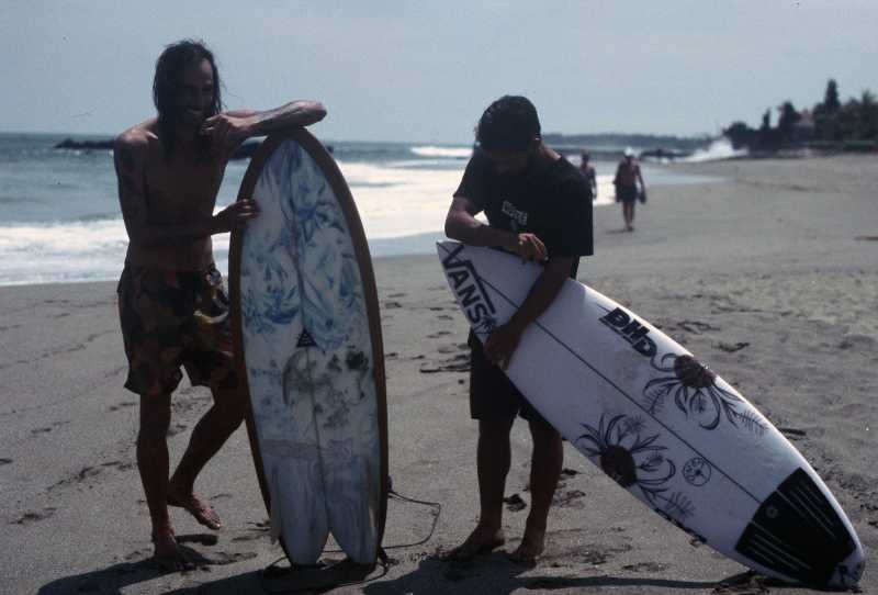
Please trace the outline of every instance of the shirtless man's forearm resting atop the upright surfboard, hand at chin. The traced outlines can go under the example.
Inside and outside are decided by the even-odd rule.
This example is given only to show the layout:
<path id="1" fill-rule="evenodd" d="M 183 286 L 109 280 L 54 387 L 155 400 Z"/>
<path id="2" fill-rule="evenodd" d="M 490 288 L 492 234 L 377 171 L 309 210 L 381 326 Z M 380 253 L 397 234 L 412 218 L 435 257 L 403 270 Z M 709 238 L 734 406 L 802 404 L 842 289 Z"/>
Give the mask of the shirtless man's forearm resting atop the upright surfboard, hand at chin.
<path id="1" fill-rule="evenodd" d="M 201 134 L 210 136 L 212 145 L 234 150 L 251 136 L 309 126 L 326 116 L 326 109 L 317 101 L 291 101 L 274 110 L 255 112 L 238 110 L 223 112 L 204 121 Z"/>

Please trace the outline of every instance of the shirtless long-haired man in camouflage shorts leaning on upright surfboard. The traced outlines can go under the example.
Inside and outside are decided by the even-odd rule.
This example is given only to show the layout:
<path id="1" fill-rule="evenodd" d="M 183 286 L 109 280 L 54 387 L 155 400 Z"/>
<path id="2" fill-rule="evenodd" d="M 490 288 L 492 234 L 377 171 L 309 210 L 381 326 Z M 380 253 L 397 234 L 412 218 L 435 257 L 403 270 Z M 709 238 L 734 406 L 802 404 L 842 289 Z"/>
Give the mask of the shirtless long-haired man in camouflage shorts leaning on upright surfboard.
<path id="1" fill-rule="evenodd" d="M 251 136 L 319 122 L 326 111 L 295 101 L 268 112 L 222 112 L 219 76 L 200 42 L 165 48 L 156 63 L 154 117 L 122 133 L 114 160 L 128 250 L 119 307 L 128 377 L 140 395 L 137 465 L 153 523 L 156 560 L 187 568 L 168 506 L 218 529 L 213 508 L 193 493 L 195 479 L 244 418 L 230 349 L 228 299 L 213 261 L 211 236 L 239 228 L 259 210 L 238 201 L 216 215 L 216 193 L 235 148 Z M 169 478 L 166 441 L 171 393 L 187 370 L 213 393 L 180 464 Z"/>

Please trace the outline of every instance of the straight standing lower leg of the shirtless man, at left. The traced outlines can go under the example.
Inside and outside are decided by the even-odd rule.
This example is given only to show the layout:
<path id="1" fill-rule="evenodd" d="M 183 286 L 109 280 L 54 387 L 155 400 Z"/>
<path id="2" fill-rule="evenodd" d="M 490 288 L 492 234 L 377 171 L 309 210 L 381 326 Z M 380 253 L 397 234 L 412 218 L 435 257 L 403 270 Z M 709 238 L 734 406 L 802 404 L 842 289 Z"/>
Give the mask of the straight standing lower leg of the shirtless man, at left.
<path id="1" fill-rule="evenodd" d="M 168 570 L 185 565 L 168 516 L 168 426 L 170 394 L 140 396 L 140 428 L 137 434 L 137 468 L 146 493 L 156 560 Z"/>

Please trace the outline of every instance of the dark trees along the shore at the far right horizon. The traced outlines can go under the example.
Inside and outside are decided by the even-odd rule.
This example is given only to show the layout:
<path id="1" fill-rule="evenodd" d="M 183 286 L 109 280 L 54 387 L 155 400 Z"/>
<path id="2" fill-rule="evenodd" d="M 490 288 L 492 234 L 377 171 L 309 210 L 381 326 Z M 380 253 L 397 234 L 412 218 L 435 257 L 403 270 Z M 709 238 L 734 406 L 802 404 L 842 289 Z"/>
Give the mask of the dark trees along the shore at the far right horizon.
<path id="1" fill-rule="evenodd" d="M 826 83 L 823 101 L 812 109 L 796 110 L 791 101 L 777 106 L 776 125 L 772 109 L 762 116 L 762 125 L 751 128 L 745 122 L 733 122 L 722 133 L 734 148 L 779 150 L 784 148 L 824 148 L 837 150 L 875 150 L 878 147 L 878 101 L 864 90 L 842 103 L 834 79 Z"/>

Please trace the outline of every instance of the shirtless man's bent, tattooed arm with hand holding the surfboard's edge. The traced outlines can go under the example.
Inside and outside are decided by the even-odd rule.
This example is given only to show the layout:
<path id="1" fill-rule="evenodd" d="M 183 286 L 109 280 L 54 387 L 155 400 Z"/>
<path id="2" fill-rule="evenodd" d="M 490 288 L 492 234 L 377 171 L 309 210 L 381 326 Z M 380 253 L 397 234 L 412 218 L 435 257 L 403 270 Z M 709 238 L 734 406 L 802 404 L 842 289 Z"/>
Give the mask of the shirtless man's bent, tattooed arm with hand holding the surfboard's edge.
<path id="1" fill-rule="evenodd" d="M 229 232 L 256 216 L 252 201 L 239 201 L 203 221 L 177 225 L 154 225 L 147 217 L 144 168 L 148 139 L 138 131 L 119 136 L 113 146 L 113 161 L 119 181 L 119 203 L 128 239 L 137 246 L 168 245 L 212 234 Z"/>

